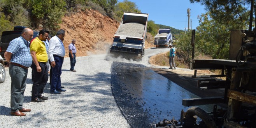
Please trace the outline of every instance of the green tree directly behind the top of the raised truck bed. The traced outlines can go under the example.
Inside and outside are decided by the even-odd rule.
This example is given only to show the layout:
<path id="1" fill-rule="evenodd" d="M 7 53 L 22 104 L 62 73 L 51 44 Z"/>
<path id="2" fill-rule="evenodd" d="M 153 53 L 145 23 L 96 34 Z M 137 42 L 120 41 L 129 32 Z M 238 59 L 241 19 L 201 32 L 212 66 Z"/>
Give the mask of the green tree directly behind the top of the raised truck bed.
<path id="1" fill-rule="evenodd" d="M 128 0 L 124 0 L 123 2 L 119 2 L 116 5 L 116 16 L 121 18 L 124 12 L 138 12 L 141 11 L 138 9 L 137 5 L 134 2 L 130 2 Z"/>

